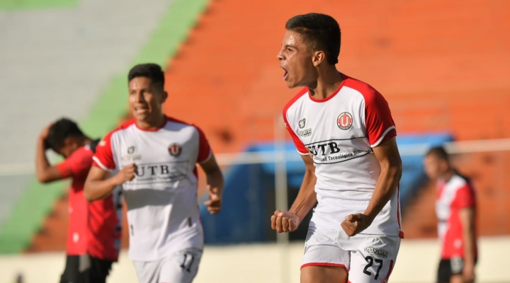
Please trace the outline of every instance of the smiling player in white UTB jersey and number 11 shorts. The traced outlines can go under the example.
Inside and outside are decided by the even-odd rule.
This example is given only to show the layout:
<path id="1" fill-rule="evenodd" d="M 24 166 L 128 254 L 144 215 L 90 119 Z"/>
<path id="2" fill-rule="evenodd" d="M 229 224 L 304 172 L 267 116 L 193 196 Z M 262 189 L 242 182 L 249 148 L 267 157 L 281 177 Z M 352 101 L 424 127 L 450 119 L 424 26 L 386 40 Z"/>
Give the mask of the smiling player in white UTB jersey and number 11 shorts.
<path id="1" fill-rule="evenodd" d="M 99 144 L 85 196 L 100 200 L 123 185 L 129 255 L 140 282 L 192 282 L 203 251 L 196 163 L 207 175 L 205 204 L 212 214 L 220 212 L 223 175 L 203 132 L 163 114 L 167 93 L 159 65 L 133 67 L 128 88 L 134 118 Z M 119 173 L 110 177 L 115 168 Z"/>

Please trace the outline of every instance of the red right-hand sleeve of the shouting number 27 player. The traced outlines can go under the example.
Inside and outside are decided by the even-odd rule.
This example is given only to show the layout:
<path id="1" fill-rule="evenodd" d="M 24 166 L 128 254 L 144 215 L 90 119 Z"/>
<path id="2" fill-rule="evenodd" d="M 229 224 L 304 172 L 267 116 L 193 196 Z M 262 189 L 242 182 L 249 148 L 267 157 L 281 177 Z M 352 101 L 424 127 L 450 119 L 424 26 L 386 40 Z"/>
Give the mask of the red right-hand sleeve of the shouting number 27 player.
<path id="1" fill-rule="evenodd" d="M 372 147 L 397 136 L 390 107 L 385 98 L 375 90 L 365 96 L 365 127 Z"/>

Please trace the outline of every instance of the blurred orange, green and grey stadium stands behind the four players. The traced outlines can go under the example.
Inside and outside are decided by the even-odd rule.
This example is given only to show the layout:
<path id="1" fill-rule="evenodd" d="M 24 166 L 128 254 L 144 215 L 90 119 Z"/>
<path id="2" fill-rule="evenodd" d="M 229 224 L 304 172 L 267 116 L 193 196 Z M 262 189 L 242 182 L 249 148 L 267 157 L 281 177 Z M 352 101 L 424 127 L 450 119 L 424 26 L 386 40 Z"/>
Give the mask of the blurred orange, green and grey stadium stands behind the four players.
<path id="1" fill-rule="evenodd" d="M 91 137 L 128 119 L 141 62 L 165 67 L 164 112 L 203 129 L 225 174 L 221 214 L 201 207 L 195 282 L 299 282 L 307 224 L 277 237 L 269 217 L 304 173 L 280 118 L 298 90 L 276 53 L 288 18 L 308 12 L 339 21 L 339 70 L 378 89 L 397 125 L 406 238 L 392 282 L 435 281 L 436 192 L 421 159 L 441 144 L 477 190 L 477 282 L 510 282 L 507 0 L 0 0 L 0 282 L 57 282 L 69 183 L 36 182 L 36 138 L 60 117 Z M 124 250 L 108 282 L 135 278 Z"/>

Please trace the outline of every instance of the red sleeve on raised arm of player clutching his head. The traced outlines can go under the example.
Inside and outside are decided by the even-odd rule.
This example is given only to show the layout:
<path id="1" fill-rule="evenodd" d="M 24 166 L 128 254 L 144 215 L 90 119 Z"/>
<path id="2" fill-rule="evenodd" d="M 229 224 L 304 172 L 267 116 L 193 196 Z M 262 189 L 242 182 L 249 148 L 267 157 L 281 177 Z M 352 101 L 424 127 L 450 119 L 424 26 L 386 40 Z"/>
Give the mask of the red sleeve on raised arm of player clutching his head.
<path id="1" fill-rule="evenodd" d="M 81 147 L 74 151 L 62 163 L 57 164 L 57 168 L 62 178 L 81 178 L 89 173 L 92 165 L 92 151 Z"/>

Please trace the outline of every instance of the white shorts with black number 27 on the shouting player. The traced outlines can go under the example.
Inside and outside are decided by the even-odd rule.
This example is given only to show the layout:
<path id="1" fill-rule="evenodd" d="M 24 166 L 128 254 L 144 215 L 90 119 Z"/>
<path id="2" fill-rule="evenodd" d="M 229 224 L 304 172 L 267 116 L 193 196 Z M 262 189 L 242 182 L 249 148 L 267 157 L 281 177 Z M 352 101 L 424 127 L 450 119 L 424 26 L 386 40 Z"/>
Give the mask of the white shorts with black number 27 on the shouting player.
<path id="1" fill-rule="evenodd" d="M 352 283 L 387 282 L 400 248 L 397 236 L 358 234 L 344 230 L 309 229 L 301 268 L 338 266 L 348 272 Z"/>

